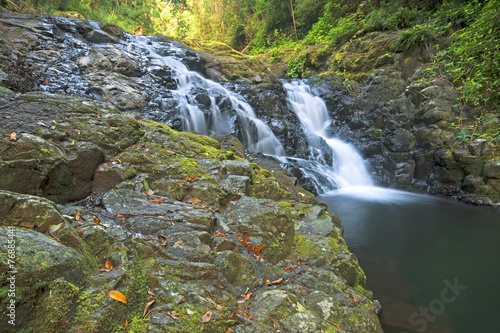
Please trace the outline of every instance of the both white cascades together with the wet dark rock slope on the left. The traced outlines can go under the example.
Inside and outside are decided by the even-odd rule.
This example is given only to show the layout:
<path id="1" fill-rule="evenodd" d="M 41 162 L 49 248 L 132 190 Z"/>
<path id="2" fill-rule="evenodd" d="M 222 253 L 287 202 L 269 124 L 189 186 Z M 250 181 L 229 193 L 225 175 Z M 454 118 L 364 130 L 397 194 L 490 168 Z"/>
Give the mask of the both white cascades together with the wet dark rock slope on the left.
<path id="1" fill-rule="evenodd" d="M 82 28 L 76 21 L 55 17 L 46 21 L 54 24 L 48 34 L 55 36 L 62 52 L 58 61 L 47 65 L 42 91 L 106 100 L 174 129 L 235 135 L 248 150 L 271 155 L 298 170 L 317 193 L 373 184 L 356 150 L 326 133 L 332 120 L 325 103 L 302 82 L 284 83 L 284 87 L 309 152 L 305 158 L 286 157 L 283 145 L 245 99 L 200 74 L 202 59 L 180 43 L 124 34 L 121 39 L 98 40 L 91 47 L 77 38 Z M 95 22 L 88 24 L 92 36 L 102 32 Z M 88 40 L 88 33 L 82 38 Z M 46 41 L 47 46 L 52 43 Z"/>

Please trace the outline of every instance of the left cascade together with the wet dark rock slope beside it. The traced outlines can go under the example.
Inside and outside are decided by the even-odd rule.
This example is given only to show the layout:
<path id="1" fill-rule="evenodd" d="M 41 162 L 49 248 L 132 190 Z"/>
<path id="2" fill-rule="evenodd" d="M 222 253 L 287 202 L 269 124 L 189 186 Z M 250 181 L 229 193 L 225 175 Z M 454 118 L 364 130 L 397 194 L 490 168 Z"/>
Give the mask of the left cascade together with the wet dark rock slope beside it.
<path id="1" fill-rule="evenodd" d="M 233 134 L 252 151 L 284 154 L 273 132 L 241 96 L 191 70 L 202 70 L 201 59 L 181 44 L 125 34 L 113 43 L 90 47 L 75 38 L 73 21 L 47 20 L 56 21 L 53 33 L 63 50 L 59 61 L 47 66 L 42 91 L 107 100 L 175 129 Z M 100 31 L 95 22 L 89 24 Z"/>

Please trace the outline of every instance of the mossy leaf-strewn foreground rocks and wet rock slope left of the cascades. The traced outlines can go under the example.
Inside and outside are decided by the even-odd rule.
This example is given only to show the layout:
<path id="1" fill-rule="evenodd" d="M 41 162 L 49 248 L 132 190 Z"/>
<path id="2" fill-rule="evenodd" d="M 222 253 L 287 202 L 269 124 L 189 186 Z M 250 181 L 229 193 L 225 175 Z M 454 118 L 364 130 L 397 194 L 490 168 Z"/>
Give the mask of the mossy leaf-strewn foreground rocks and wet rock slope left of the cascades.
<path id="1" fill-rule="evenodd" d="M 9 12 L 0 31 L 0 331 L 12 301 L 30 332 L 382 331 L 338 218 L 234 137 L 172 129 L 176 82 L 123 31 Z M 171 127 L 142 119 L 158 109 Z"/>

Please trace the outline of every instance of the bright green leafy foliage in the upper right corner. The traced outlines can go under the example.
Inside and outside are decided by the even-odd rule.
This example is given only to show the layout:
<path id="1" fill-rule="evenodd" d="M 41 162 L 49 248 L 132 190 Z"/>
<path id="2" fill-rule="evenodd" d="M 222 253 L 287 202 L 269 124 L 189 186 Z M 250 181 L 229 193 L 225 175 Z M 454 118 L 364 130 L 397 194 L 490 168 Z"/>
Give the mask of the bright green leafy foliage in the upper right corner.
<path id="1" fill-rule="evenodd" d="M 453 16 L 456 15 L 456 16 Z M 429 75 L 446 75 L 456 84 L 462 101 L 486 109 L 500 105 L 500 1 L 472 1 L 462 8 L 446 7 L 439 22 L 461 17 L 470 24 L 451 35 L 451 45 L 437 54 Z M 451 22 L 449 26 L 453 25 Z"/>

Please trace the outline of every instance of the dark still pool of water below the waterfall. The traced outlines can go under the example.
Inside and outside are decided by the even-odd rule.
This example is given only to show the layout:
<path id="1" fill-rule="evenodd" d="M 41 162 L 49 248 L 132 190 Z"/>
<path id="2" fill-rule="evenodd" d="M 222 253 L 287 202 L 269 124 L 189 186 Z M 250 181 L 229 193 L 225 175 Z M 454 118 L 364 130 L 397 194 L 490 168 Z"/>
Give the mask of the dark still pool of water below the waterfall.
<path id="1" fill-rule="evenodd" d="M 341 218 L 386 333 L 500 332 L 500 210 L 376 188 L 319 199 Z"/>

